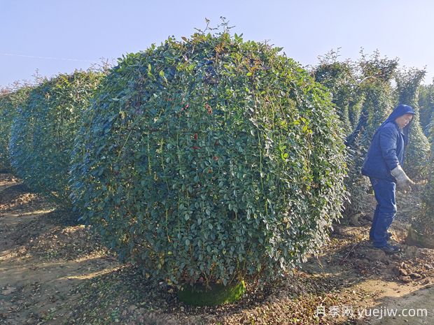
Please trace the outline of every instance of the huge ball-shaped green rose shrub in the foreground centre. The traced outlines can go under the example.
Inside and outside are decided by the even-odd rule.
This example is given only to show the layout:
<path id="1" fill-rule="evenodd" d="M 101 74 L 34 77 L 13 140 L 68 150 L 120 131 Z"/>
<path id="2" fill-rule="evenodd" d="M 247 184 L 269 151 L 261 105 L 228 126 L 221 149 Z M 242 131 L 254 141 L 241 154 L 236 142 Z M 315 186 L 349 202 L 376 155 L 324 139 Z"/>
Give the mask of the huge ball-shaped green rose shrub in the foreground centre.
<path id="1" fill-rule="evenodd" d="M 271 280 L 339 217 L 344 145 L 321 86 L 269 45 L 169 38 L 120 60 L 85 112 L 73 199 L 169 283 Z"/>

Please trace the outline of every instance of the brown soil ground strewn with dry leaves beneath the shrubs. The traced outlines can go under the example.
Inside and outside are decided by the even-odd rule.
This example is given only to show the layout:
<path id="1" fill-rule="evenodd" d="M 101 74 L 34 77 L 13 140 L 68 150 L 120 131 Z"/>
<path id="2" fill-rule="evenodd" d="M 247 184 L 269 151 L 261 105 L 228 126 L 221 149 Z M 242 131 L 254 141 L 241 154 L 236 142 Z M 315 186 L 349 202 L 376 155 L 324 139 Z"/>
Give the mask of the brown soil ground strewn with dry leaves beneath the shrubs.
<path id="1" fill-rule="evenodd" d="M 417 193 L 398 196 L 398 254 L 370 247 L 367 213 L 357 226 L 335 226 L 322 254 L 274 285 L 248 284 L 238 303 L 192 308 L 118 263 L 71 212 L 0 173 L 0 324 L 432 325 L 434 250 L 405 243 L 418 204 Z"/>

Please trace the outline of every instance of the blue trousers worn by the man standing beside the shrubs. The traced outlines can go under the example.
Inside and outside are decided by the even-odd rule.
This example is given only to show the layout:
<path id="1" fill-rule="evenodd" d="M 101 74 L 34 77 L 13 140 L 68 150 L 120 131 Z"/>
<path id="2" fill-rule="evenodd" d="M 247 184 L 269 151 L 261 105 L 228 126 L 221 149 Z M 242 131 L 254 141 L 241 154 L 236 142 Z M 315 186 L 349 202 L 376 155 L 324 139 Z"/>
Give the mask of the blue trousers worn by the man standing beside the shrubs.
<path id="1" fill-rule="evenodd" d="M 394 182 L 378 178 L 370 178 L 370 181 L 374 188 L 377 208 L 375 208 L 369 237 L 375 247 L 382 247 L 387 243 L 387 229 L 396 215 L 396 185 Z"/>

